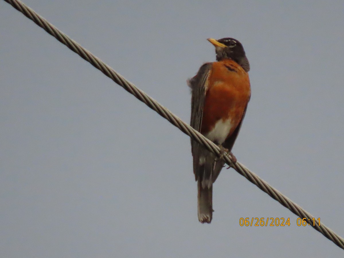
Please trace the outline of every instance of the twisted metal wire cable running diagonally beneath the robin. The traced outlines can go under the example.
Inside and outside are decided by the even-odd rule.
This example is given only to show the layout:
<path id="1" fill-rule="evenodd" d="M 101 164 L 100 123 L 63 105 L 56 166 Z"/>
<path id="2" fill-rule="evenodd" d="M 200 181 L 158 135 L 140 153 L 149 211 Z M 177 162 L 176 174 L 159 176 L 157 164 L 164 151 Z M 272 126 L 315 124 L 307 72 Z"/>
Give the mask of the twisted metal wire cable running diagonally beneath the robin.
<path id="1" fill-rule="evenodd" d="M 30 7 L 26 6 L 23 2 L 19 0 L 4 0 L 4 1 L 11 4 L 11 6 L 13 6 L 15 9 L 17 9 L 21 13 L 23 13 L 29 19 L 31 19 L 34 23 L 36 23 L 38 26 L 43 28 L 47 33 L 54 36 L 62 44 L 66 45 L 73 52 L 77 53 L 87 62 L 89 62 L 94 67 L 99 69 L 106 76 L 111 78 L 115 83 L 123 87 L 129 93 L 134 95 L 137 99 L 139 99 L 148 107 L 156 111 L 160 116 L 167 119 L 174 126 L 178 127 L 186 135 L 190 136 L 195 141 L 201 143 L 204 147 L 206 147 L 209 151 L 215 153 L 218 157 L 221 156 L 220 149 L 215 143 L 205 138 L 203 135 L 201 135 L 201 133 L 197 132 L 187 123 L 183 122 L 179 117 L 174 115 L 171 111 L 169 111 L 164 106 L 159 104 L 156 100 L 154 100 L 153 98 L 148 96 L 146 93 L 144 93 L 142 90 L 137 88 L 134 84 L 130 83 L 119 73 L 115 72 L 114 69 L 112 69 L 110 66 L 105 64 L 103 61 L 101 61 L 98 57 L 90 53 L 88 50 L 84 49 L 77 42 L 75 42 L 74 40 L 69 38 L 66 34 L 58 30 L 54 25 L 49 23 L 47 20 L 41 17 L 38 13 L 36 13 Z M 228 157 L 228 155 L 225 155 L 224 159 L 225 159 L 226 164 L 233 167 L 240 175 L 243 175 L 248 181 L 258 186 L 259 189 L 266 192 L 273 199 L 278 201 L 284 207 L 288 208 L 295 215 L 299 216 L 300 218 L 307 218 L 309 220 L 314 218 L 314 216 L 312 216 L 310 213 L 305 211 L 298 204 L 291 201 L 287 196 L 283 195 L 277 189 L 269 185 L 266 181 L 259 178 L 258 175 L 251 172 L 248 168 L 246 168 L 244 164 L 241 164 L 240 162 L 236 162 L 234 164 L 232 160 Z M 320 226 L 316 223 L 314 226 L 312 225 L 312 223 L 310 225 L 316 230 L 318 230 L 321 234 L 323 234 L 326 238 L 330 239 L 334 244 L 344 249 L 344 239 L 341 236 L 337 235 L 335 232 L 333 232 L 332 229 L 325 226 L 323 223 L 321 223 Z"/>

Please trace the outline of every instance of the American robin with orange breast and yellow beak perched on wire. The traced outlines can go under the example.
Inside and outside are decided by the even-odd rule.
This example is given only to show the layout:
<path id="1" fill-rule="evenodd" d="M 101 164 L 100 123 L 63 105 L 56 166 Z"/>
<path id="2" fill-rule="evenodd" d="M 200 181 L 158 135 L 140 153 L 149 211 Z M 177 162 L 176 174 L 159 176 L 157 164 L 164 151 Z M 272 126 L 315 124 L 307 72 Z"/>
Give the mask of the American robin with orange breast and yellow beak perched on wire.
<path id="1" fill-rule="evenodd" d="M 208 41 L 215 46 L 217 62 L 203 64 L 188 80 L 192 92 L 190 124 L 209 140 L 221 145 L 223 151 L 230 152 L 251 96 L 247 73 L 250 65 L 239 41 L 230 37 Z M 225 163 L 193 140 L 191 151 L 198 181 L 198 220 L 210 223 L 213 183 Z"/>

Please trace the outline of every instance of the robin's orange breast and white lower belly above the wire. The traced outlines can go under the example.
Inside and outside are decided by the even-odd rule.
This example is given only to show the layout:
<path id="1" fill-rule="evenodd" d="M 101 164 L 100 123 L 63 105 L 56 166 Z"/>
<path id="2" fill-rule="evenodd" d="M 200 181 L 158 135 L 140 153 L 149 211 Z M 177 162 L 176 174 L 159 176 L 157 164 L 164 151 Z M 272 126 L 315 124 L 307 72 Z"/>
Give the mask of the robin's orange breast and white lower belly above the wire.
<path id="1" fill-rule="evenodd" d="M 207 135 L 212 130 L 215 134 L 225 133 L 221 130 L 227 130 L 227 137 L 230 136 L 243 118 L 250 95 L 248 73 L 241 66 L 233 60 L 214 62 L 208 76 L 201 133 Z M 214 129 L 216 123 L 223 128 Z"/>

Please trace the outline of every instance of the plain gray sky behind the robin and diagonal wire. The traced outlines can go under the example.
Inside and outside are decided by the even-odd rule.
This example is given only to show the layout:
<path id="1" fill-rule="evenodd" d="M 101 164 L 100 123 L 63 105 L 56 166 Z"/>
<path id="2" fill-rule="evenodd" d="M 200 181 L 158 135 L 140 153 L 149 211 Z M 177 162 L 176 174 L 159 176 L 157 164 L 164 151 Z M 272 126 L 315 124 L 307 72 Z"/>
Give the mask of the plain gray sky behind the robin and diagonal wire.
<path id="1" fill-rule="evenodd" d="M 234 154 L 344 236 L 343 1 L 138 2 L 25 1 L 187 122 L 206 39 L 239 40 Z M 233 169 L 200 224 L 187 136 L 4 1 L 0 35 L 1 257 L 343 256 Z"/>

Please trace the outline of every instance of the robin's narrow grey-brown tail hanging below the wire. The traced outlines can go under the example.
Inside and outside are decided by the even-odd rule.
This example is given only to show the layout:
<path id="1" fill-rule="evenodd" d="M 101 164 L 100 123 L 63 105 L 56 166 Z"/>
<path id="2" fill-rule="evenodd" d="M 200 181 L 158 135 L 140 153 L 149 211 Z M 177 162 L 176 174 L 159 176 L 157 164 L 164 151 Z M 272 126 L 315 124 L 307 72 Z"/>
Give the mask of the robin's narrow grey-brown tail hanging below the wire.
<path id="1" fill-rule="evenodd" d="M 202 180 L 198 179 L 198 220 L 201 223 L 210 223 L 213 217 L 213 184 L 209 187 L 202 186 Z"/>

